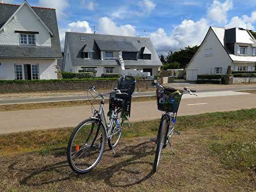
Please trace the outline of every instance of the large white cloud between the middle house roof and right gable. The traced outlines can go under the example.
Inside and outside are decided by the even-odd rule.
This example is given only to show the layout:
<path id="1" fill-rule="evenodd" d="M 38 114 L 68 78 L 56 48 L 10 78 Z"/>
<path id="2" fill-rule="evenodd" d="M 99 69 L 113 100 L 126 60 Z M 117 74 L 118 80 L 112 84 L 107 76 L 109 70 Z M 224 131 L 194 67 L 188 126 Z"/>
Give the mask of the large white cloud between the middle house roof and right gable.
<path id="1" fill-rule="evenodd" d="M 162 28 L 159 28 L 157 32 L 150 34 L 150 38 L 158 52 L 167 53 L 168 50 L 199 45 L 208 28 L 207 20 L 204 18 L 198 22 L 185 19 L 174 28 L 169 36 Z"/>

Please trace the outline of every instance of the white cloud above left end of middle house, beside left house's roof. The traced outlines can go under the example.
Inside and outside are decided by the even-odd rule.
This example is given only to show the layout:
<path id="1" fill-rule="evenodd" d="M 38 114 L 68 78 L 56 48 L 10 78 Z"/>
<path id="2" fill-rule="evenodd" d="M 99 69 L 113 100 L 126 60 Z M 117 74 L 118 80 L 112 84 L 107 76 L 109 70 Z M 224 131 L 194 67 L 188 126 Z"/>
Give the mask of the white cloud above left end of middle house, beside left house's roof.
<path id="1" fill-rule="evenodd" d="M 63 50 L 65 44 L 66 32 L 78 32 L 78 33 L 92 33 L 92 29 L 86 20 L 78 20 L 67 25 L 67 28 L 59 29 L 60 45 Z"/>

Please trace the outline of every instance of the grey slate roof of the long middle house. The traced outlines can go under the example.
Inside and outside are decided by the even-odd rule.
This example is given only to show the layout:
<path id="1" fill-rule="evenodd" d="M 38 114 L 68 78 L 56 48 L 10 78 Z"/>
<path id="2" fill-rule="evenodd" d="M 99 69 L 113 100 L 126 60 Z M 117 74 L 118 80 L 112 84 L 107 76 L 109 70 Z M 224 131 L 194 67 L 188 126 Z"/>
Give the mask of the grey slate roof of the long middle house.
<path id="1" fill-rule="evenodd" d="M 81 40 L 80 36 L 86 40 Z M 118 66 L 119 62 L 116 60 L 101 60 L 100 50 L 140 52 L 143 47 L 147 47 L 152 53 L 151 60 L 124 60 L 124 65 L 162 66 L 150 38 L 66 32 L 64 60 L 66 50 L 69 49 L 73 66 Z M 84 59 L 82 57 L 82 51 L 85 48 L 94 51 L 94 59 Z"/>

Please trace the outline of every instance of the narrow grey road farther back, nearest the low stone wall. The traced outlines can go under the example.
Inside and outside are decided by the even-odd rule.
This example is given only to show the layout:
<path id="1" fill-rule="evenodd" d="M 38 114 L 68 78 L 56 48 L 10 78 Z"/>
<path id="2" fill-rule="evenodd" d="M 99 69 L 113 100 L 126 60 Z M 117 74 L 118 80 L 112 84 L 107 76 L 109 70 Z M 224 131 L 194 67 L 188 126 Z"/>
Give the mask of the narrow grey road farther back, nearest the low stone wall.
<path id="1" fill-rule="evenodd" d="M 182 84 L 183 85 L 183 84 Z M 197 86 L 197 84 L 195 85 Z M 176 83 L 173 85 L 173 87 L 180 87 L 179 83 Z M 193 88 L 193 86 L 192 86 Z M 217 91 L 239 91 L 239 90 L 255 90 L 256 85 L 251 85 L 251 86 L 234 86 L 234 87 L 223 87 L 222 88 L 203 88 L 203 89 L 198 89 L 197 93 L 202 93 L 202 92 L 217 92 Z M 141 97 L 141 96 L 154 96 L 155 92 L 139 92 L 139 93 L 134 93 L 135 97 Z M 91 98 L 91 97 L 89 97 Z M 41 97 L 41 98 L 15 98 L 15 99 L 0 99 L 0 105 L 1 104 L 15 104 L 15 103 L 34 103 L 34 102 L 56 102 L 56 101 L 73 101 L 73 100 L 87 100 L 87 96 L 52 96 L 52 97 Z"/>

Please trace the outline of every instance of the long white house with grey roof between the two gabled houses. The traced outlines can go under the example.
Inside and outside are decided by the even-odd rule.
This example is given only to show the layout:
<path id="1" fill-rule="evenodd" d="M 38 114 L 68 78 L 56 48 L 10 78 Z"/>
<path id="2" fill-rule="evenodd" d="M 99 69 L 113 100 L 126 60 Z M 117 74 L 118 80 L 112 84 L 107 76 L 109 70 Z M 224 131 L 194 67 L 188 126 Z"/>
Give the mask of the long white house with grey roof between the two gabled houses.
<path id="1" fill-rule="evenodd" d="M 62 71 L 153 77 L 161 66 L 150 38 L 66 32 Z"/>

